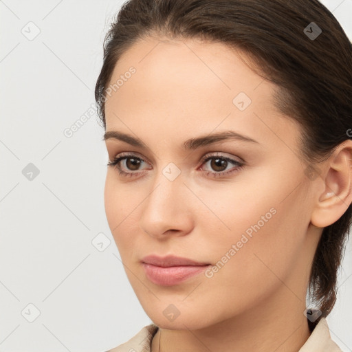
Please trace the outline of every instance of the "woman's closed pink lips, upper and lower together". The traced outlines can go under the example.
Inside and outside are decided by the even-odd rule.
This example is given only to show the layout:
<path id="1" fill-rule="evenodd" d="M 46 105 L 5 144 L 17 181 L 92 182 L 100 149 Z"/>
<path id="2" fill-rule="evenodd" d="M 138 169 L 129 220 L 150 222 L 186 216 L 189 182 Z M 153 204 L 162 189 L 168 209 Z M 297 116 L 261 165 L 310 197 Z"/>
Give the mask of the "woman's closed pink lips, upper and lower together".
<path id="1" fill-rule="evenodd" d="M 192 261 L 178 256 L 159 257 L 146 256 L 142 259 L 142 266 L 147 278 L 157 285 L 177 285 L 192 276 L 200 274 L 209 263 Z"/>

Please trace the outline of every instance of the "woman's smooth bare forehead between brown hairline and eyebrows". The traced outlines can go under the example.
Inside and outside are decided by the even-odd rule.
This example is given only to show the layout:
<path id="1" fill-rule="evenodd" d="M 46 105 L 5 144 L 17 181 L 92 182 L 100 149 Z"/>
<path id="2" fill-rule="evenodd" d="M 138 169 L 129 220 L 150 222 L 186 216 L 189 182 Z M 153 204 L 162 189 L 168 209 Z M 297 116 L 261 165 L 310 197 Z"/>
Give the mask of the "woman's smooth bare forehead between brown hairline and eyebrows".
<path id="1" fill-rule="evenodd" d="M 107 130 L 141 132 L 143 125 L 144 131 L 168 133 L 170 139 L 187 131 L 194 136 L 195 131 L 235 129 L 255 133 L 265 143 L 293 122 L 274 109 L 274 85 L 241 58 L 243 53 L 223 43 L 154 38 L 135 43 L 113 70 L 105 103 Z M 241 100 L 245 109 L 243 104 L 239 109 Z"/>

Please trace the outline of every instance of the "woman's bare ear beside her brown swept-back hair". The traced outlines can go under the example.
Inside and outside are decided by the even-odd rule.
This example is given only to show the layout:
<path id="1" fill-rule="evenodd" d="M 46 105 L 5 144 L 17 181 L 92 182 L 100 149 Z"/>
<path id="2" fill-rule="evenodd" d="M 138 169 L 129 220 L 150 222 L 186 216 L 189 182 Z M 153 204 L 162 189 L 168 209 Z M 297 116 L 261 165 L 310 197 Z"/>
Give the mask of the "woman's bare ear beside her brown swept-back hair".
<path id="1" fill-rule="evenodd" d="M 352 140 L 346 140 L 336 148 L 325 161 L 324 170 L 316 179 L 322 185 L 316 193 L 311 214 L 311 223 L 318 228 L 338 221 L 352 202 Z"/>

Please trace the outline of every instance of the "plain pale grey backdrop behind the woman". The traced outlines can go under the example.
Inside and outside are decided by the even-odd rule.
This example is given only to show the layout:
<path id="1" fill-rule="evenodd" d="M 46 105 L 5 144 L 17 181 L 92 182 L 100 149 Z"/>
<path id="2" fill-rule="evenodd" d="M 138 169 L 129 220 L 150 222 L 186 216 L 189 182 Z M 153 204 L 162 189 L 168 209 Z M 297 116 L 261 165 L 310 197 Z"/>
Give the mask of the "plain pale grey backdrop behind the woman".
<path id="1" fill-rule="evenodd" d="M 352 0 L 322 2 L 352 39 Z M 109 231 L 104 131 L 91 113 L 121 4 L 0 1 L 0 351 L 106 351 L 151 322 Z M 339 285 L 328 322 L 351 351 L 351 243 Z"/>

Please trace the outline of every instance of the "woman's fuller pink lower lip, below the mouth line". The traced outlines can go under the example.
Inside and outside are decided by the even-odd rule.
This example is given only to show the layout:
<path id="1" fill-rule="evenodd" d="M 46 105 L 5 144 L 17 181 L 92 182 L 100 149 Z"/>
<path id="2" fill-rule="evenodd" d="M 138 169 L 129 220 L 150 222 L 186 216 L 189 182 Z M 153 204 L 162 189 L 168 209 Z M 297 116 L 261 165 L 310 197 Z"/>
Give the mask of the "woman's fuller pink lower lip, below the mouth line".
<path id="1" fill-rule="evenodd" d="M 157 285 L 171 286 L 185 281 L 191 276 L 200 274 L 210 265 L 201 266 L 178 266 L 178 267 L 158 267 L 147 263 L 142 263 L 148 279 Z"/>

